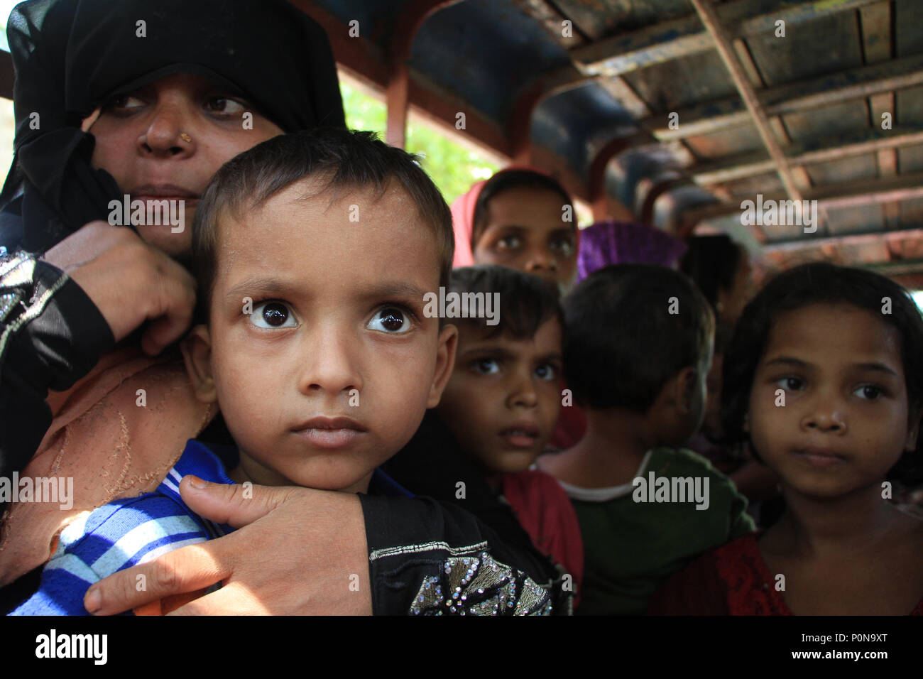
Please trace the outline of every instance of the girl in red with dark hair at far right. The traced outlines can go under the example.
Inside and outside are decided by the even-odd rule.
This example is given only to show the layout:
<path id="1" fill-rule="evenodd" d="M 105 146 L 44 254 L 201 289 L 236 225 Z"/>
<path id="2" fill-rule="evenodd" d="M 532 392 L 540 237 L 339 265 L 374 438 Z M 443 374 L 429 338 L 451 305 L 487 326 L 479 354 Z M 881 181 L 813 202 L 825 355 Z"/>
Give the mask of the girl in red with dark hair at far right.
<path id="1" fill-rule="evenodd" d="M 703 554 L 652 613 L 923 614 L 918 473 L 923 319 L 878 273 L 805 264 L 744 310 L 725 356 L 725 433 L 778 474 L 772 527 Z M 916 469 L 915 469 L 916 467 Z"/>

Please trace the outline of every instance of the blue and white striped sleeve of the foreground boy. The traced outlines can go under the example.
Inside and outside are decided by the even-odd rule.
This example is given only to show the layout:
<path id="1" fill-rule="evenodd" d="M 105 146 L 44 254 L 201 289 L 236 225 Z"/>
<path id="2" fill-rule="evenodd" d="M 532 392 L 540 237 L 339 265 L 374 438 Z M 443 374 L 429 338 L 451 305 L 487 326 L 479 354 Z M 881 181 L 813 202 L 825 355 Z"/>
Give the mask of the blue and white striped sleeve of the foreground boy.
<path id="1" fill-rule="evenodd" d="M 160 493 L 106 504 L 61 531 L 38 590 L 10 614 L 86 615 L 83 597 L 94 582 L 208 539 L 181 505 Z"/>

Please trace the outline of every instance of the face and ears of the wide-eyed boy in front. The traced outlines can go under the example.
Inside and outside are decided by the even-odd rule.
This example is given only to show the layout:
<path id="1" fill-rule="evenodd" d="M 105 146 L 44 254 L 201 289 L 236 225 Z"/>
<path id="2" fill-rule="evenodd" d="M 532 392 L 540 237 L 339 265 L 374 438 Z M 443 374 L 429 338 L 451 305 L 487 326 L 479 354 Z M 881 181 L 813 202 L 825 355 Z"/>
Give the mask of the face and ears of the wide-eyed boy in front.
<path id="1" fill-rule="evenodd" d="M 456 331 L 424 316 L 436 236 L 406 192 L 321 188 L 222 218 L 210 327 L 186 362 L 250 479 L 365 491 L 438 404 Z"/>

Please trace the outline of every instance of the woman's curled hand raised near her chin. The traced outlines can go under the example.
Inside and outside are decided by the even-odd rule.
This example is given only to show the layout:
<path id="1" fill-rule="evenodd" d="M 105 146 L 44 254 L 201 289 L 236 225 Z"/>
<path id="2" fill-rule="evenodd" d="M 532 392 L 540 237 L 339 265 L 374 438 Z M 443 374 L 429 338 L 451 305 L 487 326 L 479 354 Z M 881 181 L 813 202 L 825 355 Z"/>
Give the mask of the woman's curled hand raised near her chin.
<path id="1" fill-rule="evenodd" d="M 90 222 L 42 259 L 83 289 L 109 323 L 116 342 L 144 321 L 153 321 L 141 338 L 141 348 L 156 356 L 192 322 L 195 279 L 125 226 Z"/>

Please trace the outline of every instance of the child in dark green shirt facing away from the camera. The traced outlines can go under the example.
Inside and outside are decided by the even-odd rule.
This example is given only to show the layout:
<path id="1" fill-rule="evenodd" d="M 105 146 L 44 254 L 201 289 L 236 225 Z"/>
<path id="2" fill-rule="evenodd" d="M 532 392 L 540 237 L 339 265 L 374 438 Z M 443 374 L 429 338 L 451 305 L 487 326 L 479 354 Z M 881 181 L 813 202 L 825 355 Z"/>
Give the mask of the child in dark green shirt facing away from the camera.
<path id="1" fill-rule="evenodd" d="M 567 491 L 580 521 L 580 613 L 640 614 L 695 556 L 754 529 L 747 501 L 700 455 L 714 320 L 682 273 L 616 264 L 564 301 L 564 370 L 586 436 L 538 467 Z"/>

